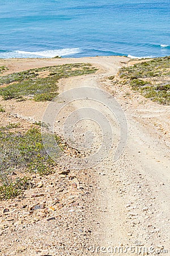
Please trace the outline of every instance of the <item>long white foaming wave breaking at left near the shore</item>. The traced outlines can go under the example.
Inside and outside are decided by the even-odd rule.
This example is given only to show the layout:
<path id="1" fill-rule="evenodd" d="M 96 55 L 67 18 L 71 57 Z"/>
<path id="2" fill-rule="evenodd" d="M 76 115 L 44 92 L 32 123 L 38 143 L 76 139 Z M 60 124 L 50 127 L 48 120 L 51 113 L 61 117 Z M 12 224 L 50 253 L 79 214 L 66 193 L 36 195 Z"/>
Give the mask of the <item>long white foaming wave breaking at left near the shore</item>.
<path id="1" fill-rule="evenodd" d="M 29 51 L 0 51 L 0 58 L 9 59 L 9 58 L 52 58 L 55 56 L 67 56 L 74 55 L 80 52 L 80 48 L 63 48 L 63 49 L 54 49 L 47 51 L 39 52 L 29 52 Z"/>

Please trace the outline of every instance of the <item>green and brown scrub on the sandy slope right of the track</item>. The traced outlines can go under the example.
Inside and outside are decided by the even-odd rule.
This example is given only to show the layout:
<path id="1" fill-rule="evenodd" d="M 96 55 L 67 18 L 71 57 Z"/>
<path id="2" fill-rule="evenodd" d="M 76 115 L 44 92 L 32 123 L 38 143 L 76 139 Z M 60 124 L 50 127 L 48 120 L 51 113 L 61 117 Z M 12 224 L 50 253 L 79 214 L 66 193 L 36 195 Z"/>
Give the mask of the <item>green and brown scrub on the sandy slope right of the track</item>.
<path id="1" fill-rule="evenodd" d="M 113 77 L 114 79 L 114 77 Z M 130 85 L 160 104 L 170 104 L 170 56 L 159 57 L 135 64 L 131 67 L 121 68 L 118 72 L 118 83 Z"/>

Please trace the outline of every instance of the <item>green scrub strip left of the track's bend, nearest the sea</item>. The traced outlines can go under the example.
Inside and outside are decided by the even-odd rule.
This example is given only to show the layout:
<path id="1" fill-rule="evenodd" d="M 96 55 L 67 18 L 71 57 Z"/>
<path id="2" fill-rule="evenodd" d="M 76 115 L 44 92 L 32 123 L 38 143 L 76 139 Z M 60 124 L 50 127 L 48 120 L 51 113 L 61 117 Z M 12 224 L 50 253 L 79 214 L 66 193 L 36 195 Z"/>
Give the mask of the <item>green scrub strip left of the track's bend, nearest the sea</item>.
<path id="1" fill-rule="evenodd" d="M 0 95 L 3 100 L 12 98 L 35 101 L 52 101 L 57 96 L 57 82 L 61 78 L 96 72 L 91 64 L 65 64 L 30 69 L 0 77 Z"/>

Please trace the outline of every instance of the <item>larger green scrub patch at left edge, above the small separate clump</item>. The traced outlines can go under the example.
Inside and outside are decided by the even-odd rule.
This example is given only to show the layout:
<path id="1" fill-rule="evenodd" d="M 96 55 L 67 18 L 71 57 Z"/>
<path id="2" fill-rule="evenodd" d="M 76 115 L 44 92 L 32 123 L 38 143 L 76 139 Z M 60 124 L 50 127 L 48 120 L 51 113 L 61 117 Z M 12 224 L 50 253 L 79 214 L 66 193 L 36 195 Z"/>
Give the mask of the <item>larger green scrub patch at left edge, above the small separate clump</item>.
<path id="1" fill-rule="evenodd" d="M 1 174 L 9 174 L 16 168 L 40 175 L 50 174 L 54 161 L 46 153 L 41 141 L 40 128 L 32 127 L 25 133 L 12 132 L 17 124 L 0 127 Z M 59 143 L 59 138 L 56 137 Z"/>

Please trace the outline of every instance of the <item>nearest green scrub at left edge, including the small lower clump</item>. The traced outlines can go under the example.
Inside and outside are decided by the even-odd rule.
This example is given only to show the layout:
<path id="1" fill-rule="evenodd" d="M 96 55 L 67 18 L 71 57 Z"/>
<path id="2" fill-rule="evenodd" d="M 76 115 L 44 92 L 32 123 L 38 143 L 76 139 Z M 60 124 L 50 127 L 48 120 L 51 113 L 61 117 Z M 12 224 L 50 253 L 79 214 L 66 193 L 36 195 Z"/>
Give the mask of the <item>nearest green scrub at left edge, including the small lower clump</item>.
<path id="1" fill-rule="evenodd" d="M 42 144 L 40 127 L 31 127 L 25 133 L 20 133 L 19 126 L 18 123 L 10 123 L 0 127 L 1 200 L 15 197 L 23 189 L 29 188 L 31 183 L 27 176 L 30 174 L 51 174 L 56 165 Z M 56 137 L 56 141 L 61 144 L 60 138 Z M 15 174 L 16 170 L 21 177 L 15 179 L 15 175 L 12 174 Z"/>

